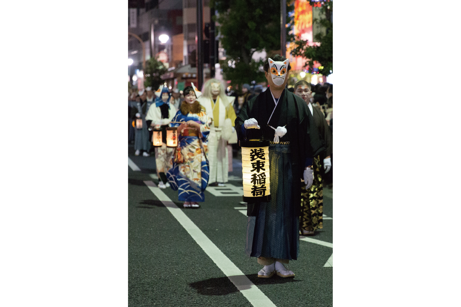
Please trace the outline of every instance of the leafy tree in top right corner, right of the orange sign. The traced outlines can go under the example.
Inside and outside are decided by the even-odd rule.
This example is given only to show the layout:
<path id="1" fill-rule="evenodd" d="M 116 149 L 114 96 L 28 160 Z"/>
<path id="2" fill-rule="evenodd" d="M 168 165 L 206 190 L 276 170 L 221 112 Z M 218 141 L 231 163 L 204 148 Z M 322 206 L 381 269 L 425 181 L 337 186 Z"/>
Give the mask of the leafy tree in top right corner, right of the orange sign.
<path id="1" fill-rule="evenodd" d="M 310 1 L 314 6 L 316 1 Z M 318 3 L 318 2 L 317 2 Z M 313 61 L 319 62 L 323 68 L 319 68 L 319 73 L 324 76 L 331 74 L 333 71 L 333 23 L 331 16 L 333 14 L 333 1 L 325 1 L 320 8 L 321 18 L 314 18 L 313 25 L 318 24 L 325 31 L 314 36 L 314 41 L 320 43 L 320 46 L 309 46 L 307 41 L 301 40 L 298 36 L 294 41 L 294 48 L 291 51 L 293 56 L 302 56 L 307 59 L 305 65 L 313 67 Z M 321 66 L 321 67 L 322 67 Z"/>

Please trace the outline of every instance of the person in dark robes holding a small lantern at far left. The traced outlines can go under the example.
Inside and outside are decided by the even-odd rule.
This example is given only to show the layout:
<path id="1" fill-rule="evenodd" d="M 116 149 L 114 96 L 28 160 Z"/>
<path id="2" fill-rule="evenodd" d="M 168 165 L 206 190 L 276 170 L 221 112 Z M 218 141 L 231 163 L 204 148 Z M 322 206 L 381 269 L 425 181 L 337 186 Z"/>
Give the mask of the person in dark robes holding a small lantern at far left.
<path id="1" fill-rule="evenodd" d="M 148 111 L 147 106 L 147 93 L 144 89 L 138 92 L 139 97 L 136 97 L 136 104 L 131 108 L 130 118 L 133 120 L 133 127 L 135 128 L 135 155 L 139 156 L 142 152 L 144 157 L 149 156 L 149 131 L 147 130 L 146 114 Z M 136 124 L 136 119 L 142 119 L 141 125 Z"/>

